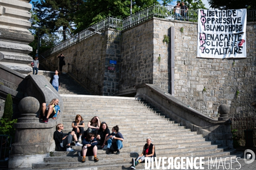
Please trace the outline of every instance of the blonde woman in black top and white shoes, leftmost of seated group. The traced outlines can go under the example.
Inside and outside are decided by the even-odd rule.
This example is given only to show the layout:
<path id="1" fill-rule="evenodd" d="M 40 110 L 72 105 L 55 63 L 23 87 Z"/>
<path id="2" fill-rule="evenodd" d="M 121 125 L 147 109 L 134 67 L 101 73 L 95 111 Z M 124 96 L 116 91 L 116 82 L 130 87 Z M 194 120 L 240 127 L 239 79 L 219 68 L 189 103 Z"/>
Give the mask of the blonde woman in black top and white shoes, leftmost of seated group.
<path id="1" fill-rule="evenodd" d="M 74 135 L 74 133 L 71 133 L 70 135 L 64 135 L 64 133 L 62 132 L 63 129 L 63 124 L 56 125 L 56 131 L 53 133 L 53 139 L 55 141 L 55 151 L 74 151 L 70 147 L 70 144 L 72 143 L 72 136 L 75 136 L 75 146 L 82 146 L 82 144 L 78 143 L 77 136 Z"/>

